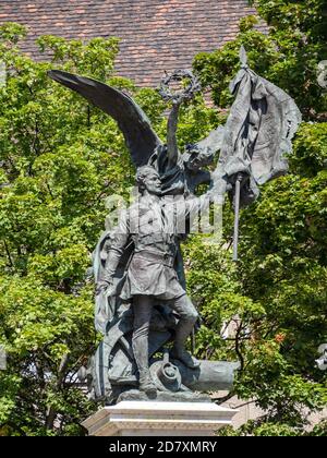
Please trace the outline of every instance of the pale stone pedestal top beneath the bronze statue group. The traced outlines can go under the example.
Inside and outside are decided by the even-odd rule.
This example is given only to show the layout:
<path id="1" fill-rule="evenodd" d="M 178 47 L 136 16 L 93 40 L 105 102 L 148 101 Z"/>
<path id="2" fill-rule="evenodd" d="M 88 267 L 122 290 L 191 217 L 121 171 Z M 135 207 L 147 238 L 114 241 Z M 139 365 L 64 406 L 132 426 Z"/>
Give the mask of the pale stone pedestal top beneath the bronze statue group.
<path id="1" fill-rule="evenodd" d="M 211 402 L 121 401 L 83 426 L 92 436 L 213 436 L 237 412 Z"/>

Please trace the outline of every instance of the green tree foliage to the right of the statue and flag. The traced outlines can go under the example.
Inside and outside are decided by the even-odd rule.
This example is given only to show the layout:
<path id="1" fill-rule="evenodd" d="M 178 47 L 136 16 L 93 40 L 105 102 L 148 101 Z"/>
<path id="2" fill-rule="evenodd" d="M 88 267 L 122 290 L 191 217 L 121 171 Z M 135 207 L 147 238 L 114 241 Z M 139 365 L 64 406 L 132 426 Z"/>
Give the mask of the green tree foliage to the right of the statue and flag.
<path id="1" fill-rule="evenodd" d="M 234 41 L 198 55 L 194 67 L 215 101 L 228 108 L 228 82 L 244 45 L 250 67 L 295 98 L 304 122 L 290 173 L 265 185 L 257 203 L 242 212 L 238 266 L 217 246 L 204 254 L 197 242 L 191 249 L 190 287 L 198 296 L 205 323 L 198 354 L 237 354 L 241 371 L 233 393 L 265 411 L 223 434 L 302 435 L 308 411 L 327 402 L 326 373 L 314 362 L 319 345 L 327 342 L 327 97 L 317 83 L 318 63 L 326 59 L 326 2 L 255 4 L 269 33 L 254 27 L 256 17 L 246 17 Z M 226 209 L 225 243 L 231 222 Z M 234 332 L 222 341 L 218 333 L 229 322 Z M 324 431 L 326 423 L 311 434 Z"/>

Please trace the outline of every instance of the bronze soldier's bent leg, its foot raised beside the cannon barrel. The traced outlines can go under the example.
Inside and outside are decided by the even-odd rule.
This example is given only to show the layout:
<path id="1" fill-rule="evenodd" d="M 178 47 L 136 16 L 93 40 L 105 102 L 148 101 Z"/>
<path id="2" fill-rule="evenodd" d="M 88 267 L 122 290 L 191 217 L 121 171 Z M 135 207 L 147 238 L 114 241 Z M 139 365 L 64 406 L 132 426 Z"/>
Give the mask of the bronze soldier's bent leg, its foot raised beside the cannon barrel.
<path id="1" fill-rule="evenodd" d="M 198 318 L 197 311 L 186 294 L 173 300 L 170 306 L 180 317 L 171 354 L 173 358 L 182 361 L 187 367 L 198 367 L 199 362 L 185 351 L 186 339 Z"/>

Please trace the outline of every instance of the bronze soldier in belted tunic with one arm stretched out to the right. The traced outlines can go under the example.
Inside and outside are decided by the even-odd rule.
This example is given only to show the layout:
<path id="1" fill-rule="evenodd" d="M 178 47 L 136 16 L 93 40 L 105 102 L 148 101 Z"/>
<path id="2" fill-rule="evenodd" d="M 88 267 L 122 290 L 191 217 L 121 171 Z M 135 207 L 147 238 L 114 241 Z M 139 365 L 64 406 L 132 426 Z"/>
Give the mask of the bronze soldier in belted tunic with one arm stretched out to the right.
<path id="1" fill-rule="evenodd" d="M 120 297 L 133 304 L 132 345 L 140 373 L 140 389 L 149 394 L 156 391 L 148 370 L 148 333 L 155 301 L 167 303 L 180 318 L 171 355 L 187 367 L 199 365 L 185 350 L 186 338 L 198 315 L 178 279 L 174 261 L 179 248 L 178 229 L 182 227 L 183 219 L 192 218 L 192 214 L 197 215 L 199 209 L 208 207 L 214 189 L 201 197 L 167 202 L 160 197 L 160 177 L 149 166 L 137 170 L 136 182 L 140 201 L 119 221 L 97 290 L 108 290 L 113 285 L 117 266 L 132 239 L 134 253 Z"/>

